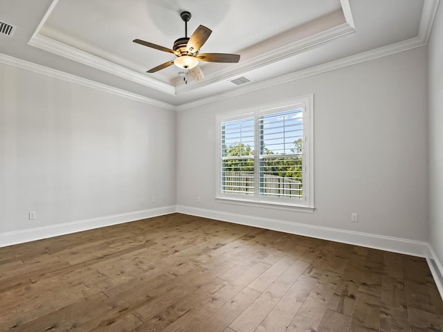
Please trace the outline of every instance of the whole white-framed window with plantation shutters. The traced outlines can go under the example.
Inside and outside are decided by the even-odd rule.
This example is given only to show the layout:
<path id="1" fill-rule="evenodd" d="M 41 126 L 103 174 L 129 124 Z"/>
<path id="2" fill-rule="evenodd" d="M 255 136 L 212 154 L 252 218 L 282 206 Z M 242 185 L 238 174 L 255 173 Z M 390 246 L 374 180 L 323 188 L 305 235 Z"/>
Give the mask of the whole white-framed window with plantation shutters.
<path id="1" fill-rule="evenodd" d="M 312 99 L 217 117 L 217 199 L 314 208 Z"/>

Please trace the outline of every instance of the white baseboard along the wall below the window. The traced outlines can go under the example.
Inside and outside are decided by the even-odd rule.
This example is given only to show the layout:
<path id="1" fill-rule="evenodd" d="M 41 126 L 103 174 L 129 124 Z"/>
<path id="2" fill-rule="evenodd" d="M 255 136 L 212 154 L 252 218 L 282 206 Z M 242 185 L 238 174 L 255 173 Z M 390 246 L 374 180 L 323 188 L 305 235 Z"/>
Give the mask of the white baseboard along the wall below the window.
<path id="1" fill-rule="evenodd" d="M 227 221 L 229 223 L 238 223 L 249 225 L 267 230 L 277 230 L 298 234 L 305 237 L 315 237 L 316 239 L 325 239 L 341 243 L 353 244 L 390 252 L 398 252 L 406 255 L 418 257 L 428 256 L 428 243 L 410 239 L 401 239 L 397 237 L 386 237 L 378 234 L 368 234 L 363 232 L 353 232 L 350 230 L 338 230 L 336 228 L 327 228 L 316 225 L 307 225 L 291 221 L 280 221 L 276 219 L 266 219 L 258 216 L 247 216 L 245 214 L 234 214 L 230 212 L 221 212 L 216 210 L 206 210 L 192 208 L 183 205 L 177 205 L 177 212 L 190 214 L 192 216 L 201 216 L 208 219 Z"/>

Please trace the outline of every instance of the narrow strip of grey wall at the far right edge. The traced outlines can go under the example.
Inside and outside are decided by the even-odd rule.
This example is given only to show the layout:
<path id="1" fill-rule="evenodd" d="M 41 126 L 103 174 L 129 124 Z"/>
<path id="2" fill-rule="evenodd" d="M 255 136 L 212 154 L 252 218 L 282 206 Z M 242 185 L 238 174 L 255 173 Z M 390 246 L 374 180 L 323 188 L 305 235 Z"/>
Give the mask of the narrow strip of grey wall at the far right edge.
<path id="1" fill-rule="evenodd" d="M 429 242 L 443 263 L 443 8 L 437 10 L 428 43 Z M 443 273 L 443 270 L 442 270 Z M 442 280 L 443 282 L 443 280 Z"/>

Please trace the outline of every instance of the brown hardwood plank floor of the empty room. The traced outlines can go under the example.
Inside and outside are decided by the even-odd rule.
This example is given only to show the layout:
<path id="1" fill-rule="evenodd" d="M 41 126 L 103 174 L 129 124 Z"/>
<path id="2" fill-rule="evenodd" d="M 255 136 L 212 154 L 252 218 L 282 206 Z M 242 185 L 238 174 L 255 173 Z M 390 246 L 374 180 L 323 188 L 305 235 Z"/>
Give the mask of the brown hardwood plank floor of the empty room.
<path id="1" fill-rule="evenodd" d="M 0 248 L 0 331 L 440 331 L 426 261 L 171 214 Z"/>

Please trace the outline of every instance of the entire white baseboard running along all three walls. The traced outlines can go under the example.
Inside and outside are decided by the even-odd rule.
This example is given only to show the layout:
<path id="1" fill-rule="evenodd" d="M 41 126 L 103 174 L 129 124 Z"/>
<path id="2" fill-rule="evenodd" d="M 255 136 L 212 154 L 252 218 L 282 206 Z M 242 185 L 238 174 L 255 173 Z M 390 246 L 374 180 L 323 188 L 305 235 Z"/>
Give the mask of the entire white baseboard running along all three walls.
<path id="1" fill-rule="evenodd" d="M 0 233 L 0 248 L 12 246 L 18 243 L 46 239 L 48 237 L 57 237 L 59 235 L 117 225 L 119 223 L 127 223 L 129 221 L 152 218 L 154 216 L 163 216 L 165 214 L 171 214 L 174 212 L 189 214 L 192 216 L 201 216 L 208 219 L 227 221 L 229 223 L 239 223 L 241 225 L 249 225 L 268 230 L 277 230 L 280 232 L 314 237 L 317 239 L 349 243 L 356 246 L 387 250 L 390 252 L 399 252 L 401 254 L 413 255 L 417 257 L 426 257 L 428 266 L 431 269 L 431 273 L 435 280 L 435 284 L 437 285 L 440 295 L 443 298 L 443 266 L 435 255 L 435 252 L 431 246 L 426 242 L 400 239 L 397 237 L 386 237 L 363 232 L 352 232 L 349 230 L 338 230 L 336 228 L 306 225 L 276 219 L 266 219 L 256 216 L 248 216 L 245 214 L 233 214 L 230 212 L 192 208 L 183 205 L 170 205 L 163 208 L 114 214 L 113 216 L 102 216 L 99 218 L 84 219 L 70 223 L 60 223 L 57 225 Z"/>

